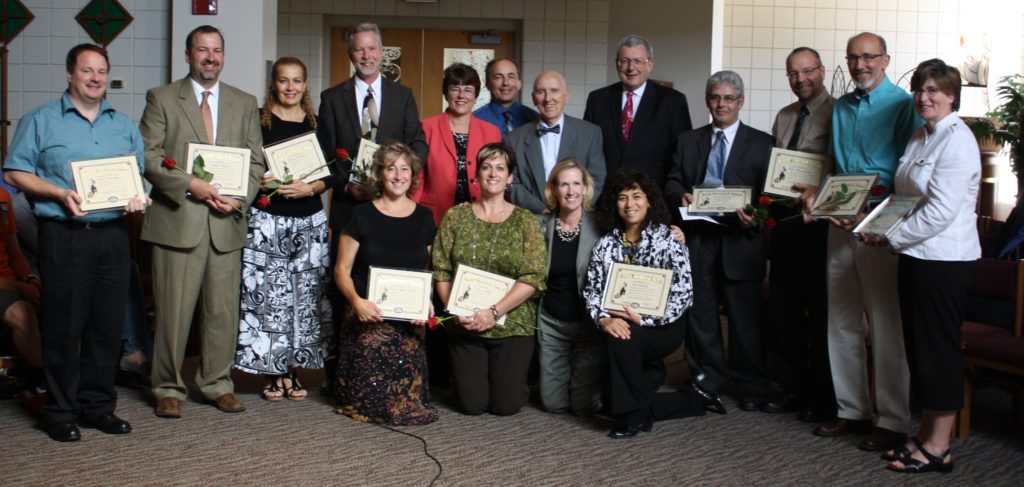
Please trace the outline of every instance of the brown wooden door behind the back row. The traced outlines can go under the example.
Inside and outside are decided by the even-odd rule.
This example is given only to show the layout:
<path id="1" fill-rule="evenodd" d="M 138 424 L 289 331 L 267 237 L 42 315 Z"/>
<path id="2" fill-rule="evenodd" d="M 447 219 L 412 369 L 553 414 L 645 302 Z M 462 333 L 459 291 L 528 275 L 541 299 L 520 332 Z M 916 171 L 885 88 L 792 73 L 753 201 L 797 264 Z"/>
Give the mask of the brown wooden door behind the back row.
<path id="1" fill-rule="evenodd" d="M 334 86 L 351 78 L 352 64 L 348 59 L 348 43 L 345 41 L 346 28 L 331 29 L 331 85 Z M 483 87 L 483 65 L 495 57 L 515 55 L 515 33 L 499 32 L 501 44 L 473 45 L 465 31 L 427 31 L 407 29 L 385 29 L 381 31 L 384 40 L 384 77 L 396 81 L 413 90 L 420 118 L 441 113 L 444 97 L 441 81 L 444 77 L 445 59 L 472 59 L 480 75 L 480 97 L 478 105 L 485 104 L 490 97 Z M 445 51 L 447 50 L 447 51 Z"/>

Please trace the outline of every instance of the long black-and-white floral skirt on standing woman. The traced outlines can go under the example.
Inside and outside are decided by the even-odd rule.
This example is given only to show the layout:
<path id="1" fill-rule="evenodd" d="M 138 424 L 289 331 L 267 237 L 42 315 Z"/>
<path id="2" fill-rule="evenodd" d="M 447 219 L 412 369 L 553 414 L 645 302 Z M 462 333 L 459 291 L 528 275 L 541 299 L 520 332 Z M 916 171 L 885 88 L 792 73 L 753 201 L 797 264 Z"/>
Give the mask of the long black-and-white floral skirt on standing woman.
<path id="1" fill-rule="evenodd" d="M 323 210 L 308 217 L 249 210 L 236 368 L 276 375 L 324 367 L 334 331 L 329 248 Z"/>

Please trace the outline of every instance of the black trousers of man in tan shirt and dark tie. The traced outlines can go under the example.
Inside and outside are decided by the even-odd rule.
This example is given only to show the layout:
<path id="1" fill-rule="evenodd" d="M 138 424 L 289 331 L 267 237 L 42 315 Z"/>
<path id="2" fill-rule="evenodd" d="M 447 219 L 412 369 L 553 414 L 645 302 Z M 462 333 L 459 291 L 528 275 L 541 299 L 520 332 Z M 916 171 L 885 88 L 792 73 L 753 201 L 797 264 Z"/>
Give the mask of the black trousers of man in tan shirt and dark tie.
<path id="1" fill-rule="evenodd" d="M 768 276 L 769 377 L 805 408 L 836 413 L 828 365 L 828 223 L 794 219 L 771 232 Z"/>

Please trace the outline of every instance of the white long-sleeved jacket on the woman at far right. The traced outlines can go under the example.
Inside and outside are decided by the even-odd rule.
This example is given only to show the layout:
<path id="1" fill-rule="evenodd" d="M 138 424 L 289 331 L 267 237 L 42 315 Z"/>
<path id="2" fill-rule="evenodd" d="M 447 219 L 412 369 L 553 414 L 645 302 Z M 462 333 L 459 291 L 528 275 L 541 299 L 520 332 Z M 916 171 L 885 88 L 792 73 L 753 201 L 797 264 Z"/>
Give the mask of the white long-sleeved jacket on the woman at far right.
<path id="1" fill-rule="evenodd" d="M 918 129 L 899 160 L 896 194 L 924 196 L 889 237 L 900 254 L 933 261 L 981 257 L 975 205 L 981 184 L 978 142 L 953 112 L 929 134 Z"/>

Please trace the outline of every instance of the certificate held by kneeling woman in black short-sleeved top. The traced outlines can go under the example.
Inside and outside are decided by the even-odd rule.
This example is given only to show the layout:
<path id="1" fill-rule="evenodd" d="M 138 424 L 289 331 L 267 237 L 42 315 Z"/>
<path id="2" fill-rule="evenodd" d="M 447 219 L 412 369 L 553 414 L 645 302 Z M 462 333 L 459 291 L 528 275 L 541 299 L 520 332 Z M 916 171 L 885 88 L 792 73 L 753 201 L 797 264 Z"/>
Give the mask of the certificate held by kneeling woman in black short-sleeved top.
<path id="1" fill-rule="evenodd" d="M 391 319 L 427 319 L 430 317 L 430 272 L 370 268 L 367 297 Z"/>

